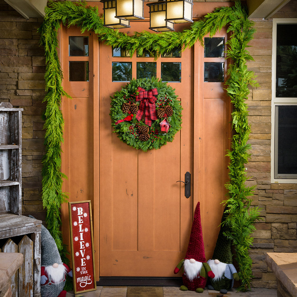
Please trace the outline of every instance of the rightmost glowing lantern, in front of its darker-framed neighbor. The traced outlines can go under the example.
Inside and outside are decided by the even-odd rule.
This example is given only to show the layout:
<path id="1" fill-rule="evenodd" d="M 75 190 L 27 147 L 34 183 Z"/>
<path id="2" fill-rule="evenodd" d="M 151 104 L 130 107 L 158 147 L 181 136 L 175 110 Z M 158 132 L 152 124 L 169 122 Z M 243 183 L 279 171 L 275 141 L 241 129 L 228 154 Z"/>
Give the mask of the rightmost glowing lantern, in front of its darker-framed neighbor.
<path id="1" fill-rule="evenodd" d="M 193 23 L 192 8 L 193 0 L 167 0 L 165 20 L 170 23 Z"/>

